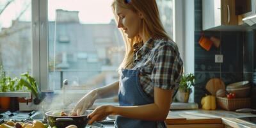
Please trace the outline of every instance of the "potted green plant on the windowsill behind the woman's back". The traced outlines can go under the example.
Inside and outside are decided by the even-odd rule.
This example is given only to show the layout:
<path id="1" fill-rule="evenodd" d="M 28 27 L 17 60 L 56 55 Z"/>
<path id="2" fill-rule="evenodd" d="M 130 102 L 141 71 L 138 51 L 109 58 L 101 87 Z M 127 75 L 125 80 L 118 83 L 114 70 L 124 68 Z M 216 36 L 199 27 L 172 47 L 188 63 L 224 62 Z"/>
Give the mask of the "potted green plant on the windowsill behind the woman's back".
<path id="1" fill-rule="evenodd" d="M 179 90 L 176 99 L 179 102 L 188 102 L 191 87 L 195 85 L 194 74 L 183 74 L 180 78 Z"/>

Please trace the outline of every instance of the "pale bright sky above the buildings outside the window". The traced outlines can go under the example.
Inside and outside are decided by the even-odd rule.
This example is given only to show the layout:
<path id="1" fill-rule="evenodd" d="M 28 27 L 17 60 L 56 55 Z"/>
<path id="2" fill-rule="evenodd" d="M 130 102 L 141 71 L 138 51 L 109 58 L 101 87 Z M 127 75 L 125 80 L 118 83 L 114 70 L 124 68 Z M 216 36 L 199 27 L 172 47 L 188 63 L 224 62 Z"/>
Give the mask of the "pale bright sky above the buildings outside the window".
<path id="1" fill-rule="evenodd" d="M 0 1 L 0 10 L 10 0 Z M 113 19 L 112 0 L 48 0 L 48 20 L 55 20 L 55 10 L 79 11 L 83 24 L 108 24 Z M 0 15 L 0 28 L 8 28 L 12 20 L 28 6 L 20 20 L 31 21 L 31 0 L 14 0 Z"/>

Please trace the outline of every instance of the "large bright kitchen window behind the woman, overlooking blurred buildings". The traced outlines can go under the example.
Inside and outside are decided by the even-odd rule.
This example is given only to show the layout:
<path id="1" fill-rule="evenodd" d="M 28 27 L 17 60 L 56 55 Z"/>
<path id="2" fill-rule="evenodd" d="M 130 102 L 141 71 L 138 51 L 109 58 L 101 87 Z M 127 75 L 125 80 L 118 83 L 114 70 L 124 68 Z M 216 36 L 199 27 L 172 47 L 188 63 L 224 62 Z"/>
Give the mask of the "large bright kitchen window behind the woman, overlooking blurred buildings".
<path id="1" fill-rule="evenodd" d="M 118 80 L 125 46 L 111 3 L 1 0 L 0 65 L 12 76 L 32 73 L 41 90 L 61 90 L 64 79 L 70 90 L 92 90 Z M 172 38 L 172 0 L 157 4 Z"/>

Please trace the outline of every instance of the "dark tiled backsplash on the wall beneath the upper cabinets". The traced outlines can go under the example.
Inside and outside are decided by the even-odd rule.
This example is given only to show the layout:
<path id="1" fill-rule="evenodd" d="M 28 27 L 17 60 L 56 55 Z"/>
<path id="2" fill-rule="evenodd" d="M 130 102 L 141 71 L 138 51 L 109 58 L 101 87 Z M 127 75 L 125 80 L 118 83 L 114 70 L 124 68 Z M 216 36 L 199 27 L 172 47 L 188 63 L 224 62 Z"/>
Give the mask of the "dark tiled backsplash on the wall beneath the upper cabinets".
<path id="1" fill-rule="evenodd" d="M 201 33 L 202 0 L 195 0 L 195 102 L 199 104 L 205 95 L 200 88 L 204 88 L 209 79 L 220 78 L 226 85 L 243 80 L 252 82 L 253 70 L 256 70 L 255 30 L 204 31 L 206 37 L 221 40 L 219 48 L 211 47 L 209 51 L 198 44 Z M 215 54 L 223 54 L 223 63 L 214 62 Z M 256 108 L 255 104 L 252 106 Z"/>

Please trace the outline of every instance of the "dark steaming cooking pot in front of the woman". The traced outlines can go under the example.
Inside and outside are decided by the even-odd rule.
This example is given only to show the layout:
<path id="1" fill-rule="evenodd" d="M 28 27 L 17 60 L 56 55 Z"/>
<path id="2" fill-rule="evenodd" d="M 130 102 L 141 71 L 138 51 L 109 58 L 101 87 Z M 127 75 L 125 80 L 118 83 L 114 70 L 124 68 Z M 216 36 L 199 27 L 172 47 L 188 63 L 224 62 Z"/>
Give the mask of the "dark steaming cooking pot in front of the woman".
<path id="1" fill-rule="evenodd" d="M 86 112 L 86 114 L 84 115 L 80 115 L 80 116 L 56 116 L 54 115 L 54 113 L 58 113 L 58 112 L 65 112 L 67 114 L 70 113 L 71 110 L 67 110 L 67 109 L 63 109 L 63 110 L 52 110 L 52 111 L 48 111 L 47 113 L 45 113 L 45 115 L 47 116 L 47 121 L 48 124 L 51 127 L 58 127 L 58 128 L 65 128 L 68 125 L 76 125 L 78 128 L 84 128 L 86 127 L 87 123 L 88 123 L 88 112 Z"/>

